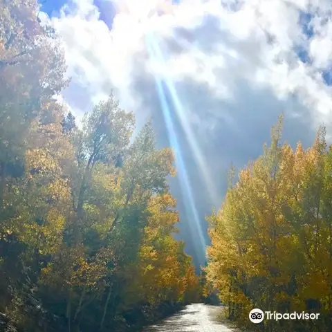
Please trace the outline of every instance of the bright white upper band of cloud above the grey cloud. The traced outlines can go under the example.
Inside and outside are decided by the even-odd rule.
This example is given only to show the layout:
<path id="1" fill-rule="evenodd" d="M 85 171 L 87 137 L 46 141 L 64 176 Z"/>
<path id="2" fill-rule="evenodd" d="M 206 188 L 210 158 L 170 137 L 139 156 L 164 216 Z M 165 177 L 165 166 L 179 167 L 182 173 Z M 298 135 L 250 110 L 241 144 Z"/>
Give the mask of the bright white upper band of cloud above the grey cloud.
<path id="1" fill-rule="evenodd" d="M 136 8 L 137 1 L 121 3 L 124 2 L 128 6 L 118 7 L 121 11 L 111 31 L 99 19 L 98 8 L 92 0 L 72 1 L 59 17 L 52 18 L 66 47 L 68 75 L 89 91 L 91 101 L 95 102 L 110 86 L 116 86 L 118 93 L 129 100 L 129 106 L 135 107 L 130 91 L 133 73 L 137 66 L 147 66 L 153 74 L 167 73 L 174 80 L 191 77 L 209 84 L 223 98 L 231 98 L 237 89 L 232 86 L 234 77 L 250 80 L 257 89 L 268 86 L 279 98 L 297 93 L 320 120 L 326 120 L 324 115 L 332 107 L 331 88 L 317 74 L 329 66 L 332 54 L 329 1 L 248 0 L 232 12 L 219 1 L 184 0 L 181 5 L 173 6 L 172 12 L 152 17 L 150 12 L 149 19 L 145 20 L 149 8 L 155 8 L 160 1 L 145 1 L 149 6 L 140 6 L 140 10 Z M 234 1 L 224 3 L 234 4 Z M 299 10 L 314 15 L 315 36 L 310 41 L 299 24 Z M 175 28 L 199 28 L 208 15 L 220 22 L 220 30 L 214 32 L 220 34 L 220 39 L 214 40 L 213 53 L 200 50 L 197 36 L 192 35 L 185 44 L 179 45 L 184 48 L 181 54 L 172 54 L 172 50 L 166 49 L 165 62 L 149 61 L 145 35 L 153 33 L 163 44 L 165 38 L 174 36 Z M 203 38 L 208 42 L 208 24 L 201 33 L 205 33 Z M 311 65 L 299 61 L 294 52 L 296 45 L 307 47 Z"/>

